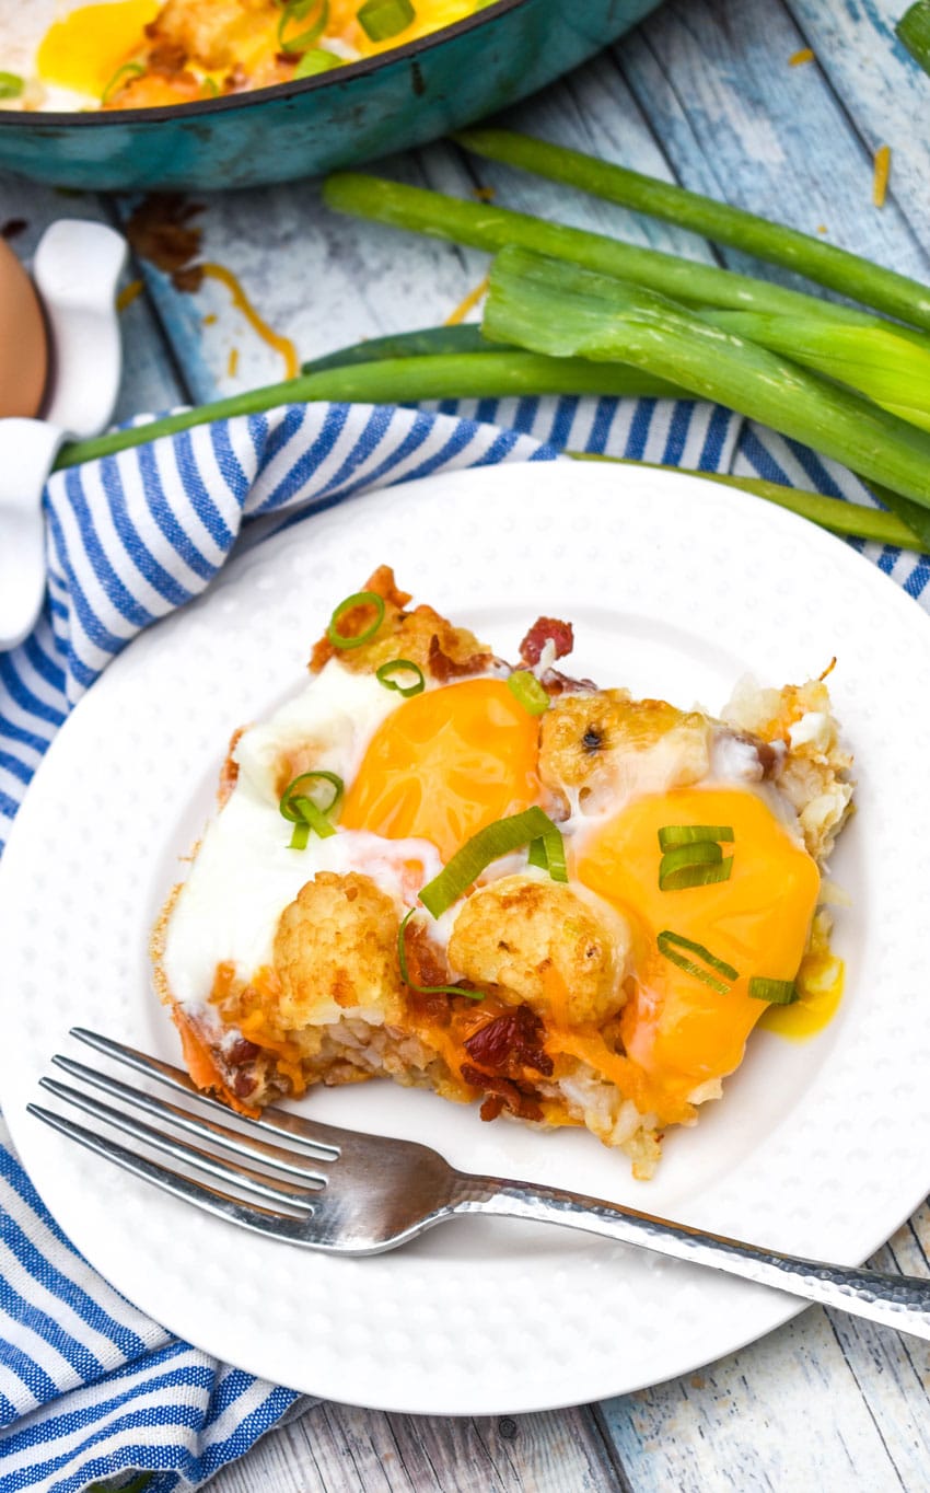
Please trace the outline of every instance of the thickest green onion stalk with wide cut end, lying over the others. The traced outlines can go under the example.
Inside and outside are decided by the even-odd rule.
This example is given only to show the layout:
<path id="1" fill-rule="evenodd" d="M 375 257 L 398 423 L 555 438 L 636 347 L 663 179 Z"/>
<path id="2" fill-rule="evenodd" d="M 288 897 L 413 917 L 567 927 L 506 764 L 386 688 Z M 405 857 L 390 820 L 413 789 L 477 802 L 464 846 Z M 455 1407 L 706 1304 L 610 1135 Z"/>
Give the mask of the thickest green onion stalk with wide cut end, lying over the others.
<path id="1" fill-rule="evenodd" d="M 549 357 L 673 376 L 930 508 L 926 431 L 648 290 L 508 248 L 491 269 L 482 330 Z"/>

